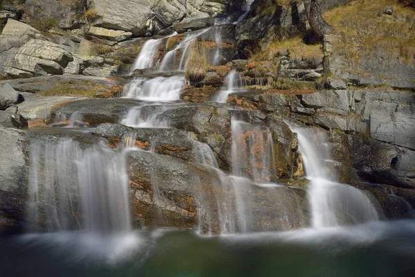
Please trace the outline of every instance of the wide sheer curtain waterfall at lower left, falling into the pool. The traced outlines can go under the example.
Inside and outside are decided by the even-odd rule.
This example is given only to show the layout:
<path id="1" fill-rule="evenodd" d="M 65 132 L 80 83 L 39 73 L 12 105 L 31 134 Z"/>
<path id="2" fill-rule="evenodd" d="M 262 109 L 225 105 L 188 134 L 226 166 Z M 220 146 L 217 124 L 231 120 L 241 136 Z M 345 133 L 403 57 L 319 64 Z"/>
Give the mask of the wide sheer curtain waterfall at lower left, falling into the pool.
<path id="1" fill-rule="evenodd" d="M 28 221 L 48 231 L 131 231 L 127 150 L 82 148 L 72 139 L 33 141 Z"/>

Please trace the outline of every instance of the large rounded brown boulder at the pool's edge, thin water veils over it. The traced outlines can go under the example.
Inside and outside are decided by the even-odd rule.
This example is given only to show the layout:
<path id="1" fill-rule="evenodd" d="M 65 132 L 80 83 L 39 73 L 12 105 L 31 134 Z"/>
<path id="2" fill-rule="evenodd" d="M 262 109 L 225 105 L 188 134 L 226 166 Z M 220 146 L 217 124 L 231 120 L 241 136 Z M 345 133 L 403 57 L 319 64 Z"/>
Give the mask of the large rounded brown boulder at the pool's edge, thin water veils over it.
<path id="1" fill-rule="evenodd" d="M 213 168 L 130 152 L 136 225 L 198 227 L 203 233 L 282 231 L 308 226 L 306 191 L 261 187 Z"/>

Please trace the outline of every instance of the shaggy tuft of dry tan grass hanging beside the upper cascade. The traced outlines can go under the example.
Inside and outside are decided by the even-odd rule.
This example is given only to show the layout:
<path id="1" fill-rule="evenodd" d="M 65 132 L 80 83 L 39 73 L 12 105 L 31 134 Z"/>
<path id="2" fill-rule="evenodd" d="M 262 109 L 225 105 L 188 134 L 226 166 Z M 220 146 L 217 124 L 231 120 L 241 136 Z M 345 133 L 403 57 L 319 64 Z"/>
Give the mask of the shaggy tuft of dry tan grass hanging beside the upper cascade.
<path id="1" fill-rule="evenodd" d="M 197 84 L 205 78 L 209 69 L 210 64 L 205 48 L 199 48 L 198 44 L 193 44 L 186 64 L 185 78 L 190 81 L 190 84 Z"/>

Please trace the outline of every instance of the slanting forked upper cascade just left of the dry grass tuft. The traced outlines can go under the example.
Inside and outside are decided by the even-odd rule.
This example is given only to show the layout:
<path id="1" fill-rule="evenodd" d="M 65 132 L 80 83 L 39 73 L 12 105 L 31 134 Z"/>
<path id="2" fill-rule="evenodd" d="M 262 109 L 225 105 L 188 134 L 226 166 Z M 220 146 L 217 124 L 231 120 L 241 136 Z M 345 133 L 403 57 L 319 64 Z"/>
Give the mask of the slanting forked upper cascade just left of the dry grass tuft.
<path id="1" fill-rule="evenodd" d="M 210 28 L 205 28 L 203 30 L 199 30 L 197 32 L 188 33 L 185 35 L 183 40 L 178 43 L 178 45 L 171 51 L 167 52 L 163 60 L 161 61 L 160 65 L 160 72 L 168 72 L 168 71 L 185 71 L 185 65 L 187 60 L 185 60 L 189 56 L 189 48 L 190 45 L 196 41 L 196 38 L 204 33 L 208 32 Z M 181 60 L 176 67 L 176 55 L 177 51 L 183 49 L 181 53 Z"/>

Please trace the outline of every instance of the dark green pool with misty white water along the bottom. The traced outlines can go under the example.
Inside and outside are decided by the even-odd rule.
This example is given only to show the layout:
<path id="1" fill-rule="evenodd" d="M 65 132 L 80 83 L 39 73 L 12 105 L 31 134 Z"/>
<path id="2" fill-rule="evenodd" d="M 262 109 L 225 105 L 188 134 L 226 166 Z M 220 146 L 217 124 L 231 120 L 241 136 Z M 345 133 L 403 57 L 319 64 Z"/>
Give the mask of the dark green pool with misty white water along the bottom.
<path id="1" fill-rule="evenodd" d="M 0 239 L 0 276 L 415 276 L 415 222 L 201 237 L 190 231 Z"/>

